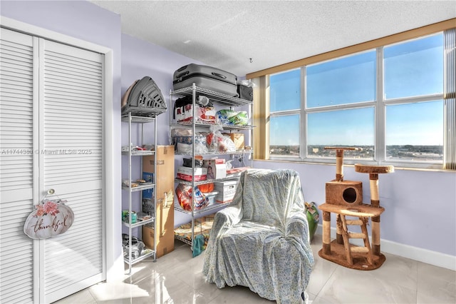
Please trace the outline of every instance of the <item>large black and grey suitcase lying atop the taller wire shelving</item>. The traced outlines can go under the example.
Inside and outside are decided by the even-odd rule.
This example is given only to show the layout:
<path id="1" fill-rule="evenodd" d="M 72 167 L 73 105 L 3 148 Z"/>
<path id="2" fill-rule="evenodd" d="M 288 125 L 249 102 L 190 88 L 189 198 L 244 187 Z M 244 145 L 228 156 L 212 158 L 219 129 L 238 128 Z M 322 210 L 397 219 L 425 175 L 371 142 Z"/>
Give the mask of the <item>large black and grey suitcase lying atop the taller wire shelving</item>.
<path id="1" fill-rule="evenodd" d="M 236 81 L 237 76 L 227 71 L 201 64 L 187 64 L 174 72 L 172 88 L 178 90 L 195 83 L 200 88 L 238 97 Z"/>

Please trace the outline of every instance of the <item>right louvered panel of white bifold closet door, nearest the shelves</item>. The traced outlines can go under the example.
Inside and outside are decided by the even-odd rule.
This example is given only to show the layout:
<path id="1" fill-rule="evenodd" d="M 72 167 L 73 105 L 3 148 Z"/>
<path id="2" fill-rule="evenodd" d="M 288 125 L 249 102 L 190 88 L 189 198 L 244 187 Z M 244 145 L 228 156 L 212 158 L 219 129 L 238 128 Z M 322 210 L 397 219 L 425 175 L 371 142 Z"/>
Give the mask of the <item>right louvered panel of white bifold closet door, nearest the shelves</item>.
<path id="1" fill-rule="evenodd" d="M 73 209 L 44 241 L 46 303 L 105 280 L 103 55 L 40 39 L 40 185 Z"/>

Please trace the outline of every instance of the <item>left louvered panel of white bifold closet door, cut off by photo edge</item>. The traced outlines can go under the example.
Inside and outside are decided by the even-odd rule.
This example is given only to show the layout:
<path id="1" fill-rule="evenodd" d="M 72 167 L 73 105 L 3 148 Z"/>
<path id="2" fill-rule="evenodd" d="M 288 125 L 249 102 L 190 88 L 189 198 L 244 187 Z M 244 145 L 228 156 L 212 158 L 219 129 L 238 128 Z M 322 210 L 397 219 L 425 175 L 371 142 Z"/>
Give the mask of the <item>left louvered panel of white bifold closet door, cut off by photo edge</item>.
<path id="1" fill-rule="evenodd" d="M 0 303 L 33 302 L 33 39 L 0 29 Z"/>

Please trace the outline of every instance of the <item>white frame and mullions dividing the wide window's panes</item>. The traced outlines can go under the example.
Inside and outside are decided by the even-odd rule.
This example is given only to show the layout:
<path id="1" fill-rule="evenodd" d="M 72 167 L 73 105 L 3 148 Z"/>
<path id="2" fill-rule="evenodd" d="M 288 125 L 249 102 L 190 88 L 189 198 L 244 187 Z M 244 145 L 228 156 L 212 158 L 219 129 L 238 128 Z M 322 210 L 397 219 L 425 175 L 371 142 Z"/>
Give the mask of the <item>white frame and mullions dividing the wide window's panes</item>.
<path id="1" fill-rule="evenodd" d="M 373 159 L 365 159 L 365 158 L 346 158 L 344 161 L 347 164 L 353 163 L 365 163 L 371 165 L 393 165 L 397 167 L 404 167 L 404 168 L 431 168 L 431 169 L 442 169 L 445 163 L 445 160 L 442 159 L 441 162 L 432 162 L 432 161 L 404 161 L 404 160 L 387 160 L 387 151 L 386 151 L 386 108 L 387 106 L 394 106 L 400 104 L 412 104 L 412 103 L 421 103 L 421 102 L 428 102 L 428 101 L 439 101 L 442 100 L 444 103 L 444 91 L 442 88 L 442 93 L 437 94 L 429 94 L 426 96 L 411 96 L 411 97 L 403 97 L 403 98 L 385 98 L 384 96 L 384 61 L 383 61 L 383 49 L 388 46 L 393 46 L 395 44 L 403 44 L 407 43 L 408 41 L 424 39 L 428 36 L 433 35 L 440 35 L 443 34 L 442 31 L 435 31 L 430 34 L 425 34 L 422 36 L 414 37 L 413 39 L 403 39 L 401 41 L 395 41 L 394 43 L 384 44 L 381 46 L 377 46 L 372 49 L 363 49 L 362 51 L 356 51 L 350 54 L 345 54 L 343 56 L 335 56 L 333 58 L 329 58 L 323 61 L 316 61 L 312 64 L 322 64 L 326 61 L 333 61 L 338 59 L 343 59 L 347 56 L 354 56 L 356 54 L 363 54 L 369 51 L 375 51 L 375 67 L 376 67 L 376 75 L 375 75 L 375 100 L 374 101 L 362 101 L 358 103 L 346 103 L 346 104 L 339 104 L 333 106 L 319 106 L 319 107 L 312 107 L 307 108 L 306 106 L 306 69 L 307 66 L 311 64 L 306 64 L 301 66 L 301 108 L 296 110 L 288 110 L 288 111 L 274 111 L 269 112 L 269 117 L 277 117 L 277 116 L 288 116 L 288 115 L 299 115 L 300 117 L 300 126 L 301 126 L 301 133 L 299 138 L 299 157 L 296 156 L 280 156 L 280 155 L 269 155 L 269 160 L 271 161 L 298 161 L 304 163 L 333 163 L 335 157 L 326 157 L 326 158 L 312 158 L 308 156 L 308 148 L 307 148 L 307 116 L 309 113 L 322 113 L 322 112 L 329 112 L 329 111 L 341 111 L 341 110 L 349 110 L 349 109 L 356 109 L 356 108 L 370 108 L 373 107 L 374 109 L 374 147 L 375 153 Z M 443 54 L 442 54 L 443 56 Z M 296 69 L 296 68 L 294 68 Z M 291 71 L 293 69 L 289 69 L 286 71 Z M 286 71 L 281 71 L 280 73 L 284 73 Z M 442 112 L 442 117 L 445 117 L 445 113 Z M 444 136 L 444 130 L 442 126 L 442 136 Z M 443 143 L 445 146 L 445 143 Z M 269 141 L 267 147 L 269 149 Z"/>

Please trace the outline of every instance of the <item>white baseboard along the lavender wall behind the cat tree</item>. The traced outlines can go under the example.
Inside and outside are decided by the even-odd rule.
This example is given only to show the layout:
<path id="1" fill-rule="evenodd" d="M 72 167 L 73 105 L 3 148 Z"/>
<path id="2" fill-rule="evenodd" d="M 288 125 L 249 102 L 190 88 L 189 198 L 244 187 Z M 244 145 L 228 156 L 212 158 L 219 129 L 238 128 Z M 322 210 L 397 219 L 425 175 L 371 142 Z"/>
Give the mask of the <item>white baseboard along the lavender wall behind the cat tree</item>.
<path id="1" fill-rule="evenodd" d="M 322 235 L 323 226 L 318 224 L 316 234 Z M 331 238 L 336 238 L 336 228 L 331 227 Z M 357 241 L 360 243 L 358 244 Z M 353 240 L 355 245 L 363 245 L 362 240 Z M 442 268 L 447 268 L 456 271 L 456 256 L 437 251 L 427 250 L 423 248 L 413 247 L 401 243 L 396 243 L 390 240 L 380 239 L 380 248 L 383 253 L 399 255 L 403 258 L 411 258 L 423 263 L 435 265 Z"/>

